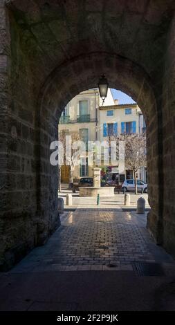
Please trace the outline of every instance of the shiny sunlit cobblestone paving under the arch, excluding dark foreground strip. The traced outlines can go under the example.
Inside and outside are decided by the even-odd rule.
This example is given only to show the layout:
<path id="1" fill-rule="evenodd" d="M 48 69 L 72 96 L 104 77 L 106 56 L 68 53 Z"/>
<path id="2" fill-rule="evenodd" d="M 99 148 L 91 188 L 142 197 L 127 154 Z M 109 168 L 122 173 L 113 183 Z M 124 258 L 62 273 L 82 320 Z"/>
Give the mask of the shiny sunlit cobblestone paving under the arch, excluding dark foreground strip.
<path id="1" fill-rule="evenodd" d="M 136 261 L 172 261 L 154 244 L 146 214 L 115 210 L 64 212 L 61 227 L 10 272 L 133 270 Z"/>

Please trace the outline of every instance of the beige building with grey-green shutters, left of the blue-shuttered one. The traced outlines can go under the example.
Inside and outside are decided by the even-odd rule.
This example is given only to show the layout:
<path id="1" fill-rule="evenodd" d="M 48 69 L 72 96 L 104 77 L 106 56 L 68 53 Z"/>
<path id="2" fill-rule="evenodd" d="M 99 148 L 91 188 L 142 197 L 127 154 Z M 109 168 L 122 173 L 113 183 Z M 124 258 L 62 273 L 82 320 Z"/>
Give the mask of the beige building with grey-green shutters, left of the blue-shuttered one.
<path id="1" fill-rule="evenodd" d="M 108 90 L 106 103 L 109 105 L 115 104 L 111 89 Z M 66 105 L 59 120 L 59 132 L 72 133 L 78 131 L 80 138 L 83 138 L 85 142 L 100 140 L 98 127 L 100 105 L 102 105 L 102 99 L 98 89 L 82 91 Z M 68 166 L 62 167 L 63 183 L 68 183 L 68 169 Z M 86 158 L 86 165 L 81 165 L 80 158 L 80 166 L 75 166 L 73 176 L 74 178 L 93 176 L 93 167 L 89 166 L 88 158 Z"/>

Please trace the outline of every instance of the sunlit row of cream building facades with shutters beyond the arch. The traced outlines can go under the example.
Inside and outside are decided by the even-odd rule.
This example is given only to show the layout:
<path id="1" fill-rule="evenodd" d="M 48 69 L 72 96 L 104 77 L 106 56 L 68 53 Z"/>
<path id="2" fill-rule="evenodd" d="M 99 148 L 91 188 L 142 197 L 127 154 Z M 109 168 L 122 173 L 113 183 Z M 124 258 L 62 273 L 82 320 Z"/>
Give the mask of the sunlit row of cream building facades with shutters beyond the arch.
<path id="1" fill-rule="evenodd" d="M 122 133 L 142 133 L 145 128 L 145 120 L 137 104 L 122 104 L 113 99 L 111 89 L 107 93 L 104 105 L 98 89 L 89 89 L 75 96 L 69 102 L 59 120 L 59 132 L 79 132 L 84 142 L 106 141 L 110 136 L 119 136 Z M 89 165 L 86 157 L 86 165 L 81 163 L 75 166 L 74 178 L 93 176 L 93 167 Z M 119 161 L 120 164 L 120 161 Z M 125 178 L 133 178 L 132 171 L 125 169 L 119 173 L 120 166 L 104 166 L 102 162 L 102 174 L 110 181 L 115 174 L 118 183 Z M 68 183 L 68 166 L 62 166 L 62 183 Z M 146 180 L 145 168 L 138 171 L 138 178 Z"/>

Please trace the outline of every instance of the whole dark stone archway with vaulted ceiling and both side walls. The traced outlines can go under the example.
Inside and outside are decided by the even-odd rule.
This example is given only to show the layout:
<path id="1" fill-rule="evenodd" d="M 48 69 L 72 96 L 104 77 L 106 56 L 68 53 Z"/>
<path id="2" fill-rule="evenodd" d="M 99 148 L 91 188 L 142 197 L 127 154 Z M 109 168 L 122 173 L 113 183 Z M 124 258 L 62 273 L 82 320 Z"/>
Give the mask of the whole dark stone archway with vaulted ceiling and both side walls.
<path id="1" fill-rule="evenodd" d="M 148 227 L 175 252 L 174 1 L 1 1 L 1 268 L 59 224 L 57 119 L 106 73 L 147 121 Z M 128 37 L 129 35 L 129 37 Z"/>

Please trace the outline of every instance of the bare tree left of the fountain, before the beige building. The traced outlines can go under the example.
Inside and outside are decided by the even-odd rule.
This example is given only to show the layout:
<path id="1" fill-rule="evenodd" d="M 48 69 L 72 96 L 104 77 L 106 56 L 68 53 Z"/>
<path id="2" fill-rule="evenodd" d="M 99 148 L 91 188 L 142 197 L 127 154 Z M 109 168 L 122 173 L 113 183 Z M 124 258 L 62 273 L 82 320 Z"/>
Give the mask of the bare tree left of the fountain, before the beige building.
<path id="1" fill-rule="evenodd" d="M 70 150 L 66 151 L 66 136 L 71 137 L 70 142 Z M 69 186 L 71 187 L 73 183 L 73 171 L 75 166 L 78 164 L 80 160 L 81 151 L 77 149 L 77 147 L 73 147 L 72 144 L 75 142 L 80 142 L 82 139 L 80 138 L 80 133 L 76 131 L 60 131 L 59 132 L 59 141 L 62 142 L 64 155 L 61 160 L 59 160 L 59 192 L 61 191 L 61 173 L 62 173 L 62 165 L 66 164 L 69 166 Z"/>

